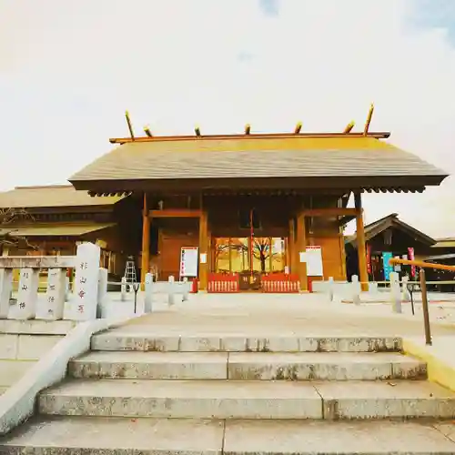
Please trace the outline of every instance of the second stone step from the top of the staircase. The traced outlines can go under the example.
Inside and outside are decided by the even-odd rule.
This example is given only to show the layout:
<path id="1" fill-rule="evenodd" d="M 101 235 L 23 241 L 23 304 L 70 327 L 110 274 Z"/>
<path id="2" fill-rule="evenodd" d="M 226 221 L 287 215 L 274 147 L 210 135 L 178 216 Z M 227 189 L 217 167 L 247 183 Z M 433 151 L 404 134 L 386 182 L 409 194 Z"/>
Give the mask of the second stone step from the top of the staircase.
<path id="1" fill-rule="evenodd" d="M 424 362 L 394 352 L 106 352 L 69 363 L 86 379 L 425 379 Z"/>

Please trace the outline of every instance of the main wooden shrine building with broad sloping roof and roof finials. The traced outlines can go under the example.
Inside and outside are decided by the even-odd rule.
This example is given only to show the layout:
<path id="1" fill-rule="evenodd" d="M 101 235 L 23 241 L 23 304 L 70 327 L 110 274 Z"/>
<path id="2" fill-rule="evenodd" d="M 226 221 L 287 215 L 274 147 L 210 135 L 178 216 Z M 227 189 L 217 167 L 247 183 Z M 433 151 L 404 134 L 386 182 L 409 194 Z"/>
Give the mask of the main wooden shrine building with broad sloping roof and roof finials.
<path id="1" fill-rule="evenodd" d="M 369 120 L 372 111 L 369 113 Z M 347 278 L 343 227 L 357 220 L 369 280 L 362 194 L 422 192 L 447 174 L 393 147 L 387 132 L 130 136 L 69 178 L 77 192 L 119 197 L 118 241 L 147 271 L 236 289 L 274 279 L 311 288 Z M 351 197 L 353 195 L 353 197 Z M 349 200 L 354 200 L 349 207 Z"/>

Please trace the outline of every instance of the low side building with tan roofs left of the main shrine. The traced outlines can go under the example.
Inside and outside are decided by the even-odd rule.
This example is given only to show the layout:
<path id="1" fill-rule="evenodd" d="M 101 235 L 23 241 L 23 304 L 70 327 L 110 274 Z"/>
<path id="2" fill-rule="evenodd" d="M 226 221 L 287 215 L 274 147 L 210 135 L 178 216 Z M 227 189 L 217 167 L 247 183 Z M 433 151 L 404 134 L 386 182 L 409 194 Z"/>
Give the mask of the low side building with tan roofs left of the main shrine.
<path id="1" fill-rule="evenodd" d="M 116 222 L 123 197 L 89 197 L 70 185 L 15 187 L 0 193 L 0 253 L 74 255 L 82 241 L 101 248 L 101 266 L 123 274 L 125 254 Z"/>

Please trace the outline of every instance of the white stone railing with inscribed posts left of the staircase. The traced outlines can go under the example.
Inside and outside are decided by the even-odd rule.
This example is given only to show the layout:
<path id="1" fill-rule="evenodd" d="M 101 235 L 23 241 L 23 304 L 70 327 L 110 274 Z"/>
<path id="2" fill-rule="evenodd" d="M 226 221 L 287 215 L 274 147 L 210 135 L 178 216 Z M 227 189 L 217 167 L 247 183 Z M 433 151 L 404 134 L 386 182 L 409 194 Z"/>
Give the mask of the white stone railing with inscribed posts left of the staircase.
<path id="1" fill-rule="evenodd" d="M 106 294 L 107 270 L 99 268 L 100 248 L 93 243 L 77 247 L 76 256 L 0 257 L 0 319 L 96 319 L 96 308 Z M 11 304 L 13 270 L 20 269 L 16 303 Z M 38 298 L 40 270 L 47 269 L 45 297 Z M 66 271 L 74 268 L 74 292 L 69 296 Z"/>

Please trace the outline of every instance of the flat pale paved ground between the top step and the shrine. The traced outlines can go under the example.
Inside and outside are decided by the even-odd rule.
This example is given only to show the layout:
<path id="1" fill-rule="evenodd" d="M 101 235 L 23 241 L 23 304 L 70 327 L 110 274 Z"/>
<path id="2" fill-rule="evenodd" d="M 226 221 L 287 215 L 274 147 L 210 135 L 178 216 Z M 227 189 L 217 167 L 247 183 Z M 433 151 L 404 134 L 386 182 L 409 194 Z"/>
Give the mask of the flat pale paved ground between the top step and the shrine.
<path id="1" fill-rule="evenodd" d="M 430 299 L 436 301 L 432 296 Z M 137 312 L 142 307 L 142 296 L 138 296 Z M 197 294 L 173 306 L 167 305 L 166 296 L 158 294 L 153 307 L 152 314 L 117 330 L 199 336 L 423 336 L 419 302 L 415 316 L 410 303 L 403 303 L 403 313 L 395 314 L 389 303 L 330 303 L 321 294 Z M 132 314 L 134 304 L 113 296 L 105 312 L 107 316 Z M 455 302 L 430 303 L 430 320 L 434 335 L 455 335 Z"/>

